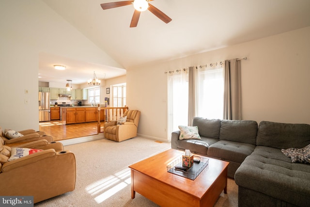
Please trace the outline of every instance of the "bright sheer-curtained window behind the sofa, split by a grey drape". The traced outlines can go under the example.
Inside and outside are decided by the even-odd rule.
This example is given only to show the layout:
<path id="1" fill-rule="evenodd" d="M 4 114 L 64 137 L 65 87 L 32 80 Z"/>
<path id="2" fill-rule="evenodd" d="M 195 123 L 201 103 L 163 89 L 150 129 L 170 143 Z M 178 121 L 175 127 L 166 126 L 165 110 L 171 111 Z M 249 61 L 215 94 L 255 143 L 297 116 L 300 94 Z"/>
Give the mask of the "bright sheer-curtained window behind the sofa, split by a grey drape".
<path id="1" fill-rule="evenodd" d="M 208 119 L 223 118 L 224 75 L 221 66 L 195 69 L 196 115 Z M 179 125 L 188 124 L 188 73 L 168 75 L 168 139 Z"/>

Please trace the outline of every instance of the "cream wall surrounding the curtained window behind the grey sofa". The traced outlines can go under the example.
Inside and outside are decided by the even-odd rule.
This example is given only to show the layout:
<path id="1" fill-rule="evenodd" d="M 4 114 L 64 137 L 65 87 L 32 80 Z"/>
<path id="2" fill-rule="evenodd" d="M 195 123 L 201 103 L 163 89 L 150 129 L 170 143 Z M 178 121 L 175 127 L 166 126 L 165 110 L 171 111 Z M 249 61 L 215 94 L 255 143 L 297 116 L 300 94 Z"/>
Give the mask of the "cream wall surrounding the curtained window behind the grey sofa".
<path id="1" fill-rule="evenodd" d="M 167 75 L 191 65 L 248 57 L 241 63 L 242 119 L 310 124 L 310 27 L 127 69 L 127 104 L 141 111 L 138 133 L 167 140 Z M 207 118 L 207 117 L 206 117 Z"/>

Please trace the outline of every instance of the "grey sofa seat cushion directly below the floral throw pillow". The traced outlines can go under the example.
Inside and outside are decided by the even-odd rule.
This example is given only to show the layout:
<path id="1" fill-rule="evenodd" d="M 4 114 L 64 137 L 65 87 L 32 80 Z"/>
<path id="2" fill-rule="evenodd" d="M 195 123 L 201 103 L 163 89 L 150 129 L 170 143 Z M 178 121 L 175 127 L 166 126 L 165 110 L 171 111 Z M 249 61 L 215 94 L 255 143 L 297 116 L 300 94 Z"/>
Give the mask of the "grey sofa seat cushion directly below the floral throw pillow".
<path id="1" fill-rule="evenodd" d="M 201 137 L 201 140 L 178 140 L 178 149 L 189 149 L 194 154 L 207 155 L 208 147 L 216 143 L 213 138 Z"/>

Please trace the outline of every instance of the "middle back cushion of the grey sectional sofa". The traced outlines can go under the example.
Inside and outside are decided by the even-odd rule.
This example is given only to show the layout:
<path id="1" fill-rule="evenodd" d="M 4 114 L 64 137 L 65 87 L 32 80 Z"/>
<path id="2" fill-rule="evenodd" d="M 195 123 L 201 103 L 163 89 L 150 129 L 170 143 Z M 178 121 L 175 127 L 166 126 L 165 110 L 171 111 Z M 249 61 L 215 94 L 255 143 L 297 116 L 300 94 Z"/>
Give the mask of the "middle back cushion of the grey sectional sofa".
<path id="1" fill-rule="evenodd" d="M 219 139 L 256 144 L 257 122 L 248 120 L 221 120 Z"/>

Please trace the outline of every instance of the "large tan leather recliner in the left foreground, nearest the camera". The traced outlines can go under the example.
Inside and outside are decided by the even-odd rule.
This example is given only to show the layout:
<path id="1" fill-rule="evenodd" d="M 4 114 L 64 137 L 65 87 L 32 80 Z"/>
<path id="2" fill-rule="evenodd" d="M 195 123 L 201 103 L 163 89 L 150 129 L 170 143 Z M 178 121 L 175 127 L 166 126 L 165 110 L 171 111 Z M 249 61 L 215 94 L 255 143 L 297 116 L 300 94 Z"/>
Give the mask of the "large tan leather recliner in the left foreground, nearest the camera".
<path id="1" fill-rule="evenodd" d="M 43 151 L 7 161 L 11 148 L 0 142 L 0 195 L 33 196 L 37 203 L 75 189 L 76 158 L 62 143 L 38 140 L 16 147 Z"/>

